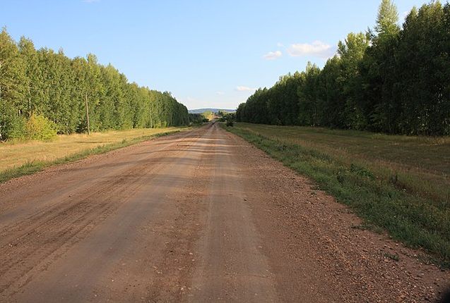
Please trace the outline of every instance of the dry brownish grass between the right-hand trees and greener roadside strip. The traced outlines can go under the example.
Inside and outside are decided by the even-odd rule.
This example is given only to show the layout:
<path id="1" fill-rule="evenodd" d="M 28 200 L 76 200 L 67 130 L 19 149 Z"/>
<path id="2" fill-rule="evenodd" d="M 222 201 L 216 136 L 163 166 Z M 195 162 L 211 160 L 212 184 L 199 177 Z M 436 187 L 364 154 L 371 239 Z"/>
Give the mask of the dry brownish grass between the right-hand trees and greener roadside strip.
<path id="1" fill-rule="evenodd" d="M 325 152 L 364 166 L 412 194 L 439 204 L 450 202 L 450 137 L 381 135 L 353 130 L 239 123 L 239 128 L 285 144 Z"/>

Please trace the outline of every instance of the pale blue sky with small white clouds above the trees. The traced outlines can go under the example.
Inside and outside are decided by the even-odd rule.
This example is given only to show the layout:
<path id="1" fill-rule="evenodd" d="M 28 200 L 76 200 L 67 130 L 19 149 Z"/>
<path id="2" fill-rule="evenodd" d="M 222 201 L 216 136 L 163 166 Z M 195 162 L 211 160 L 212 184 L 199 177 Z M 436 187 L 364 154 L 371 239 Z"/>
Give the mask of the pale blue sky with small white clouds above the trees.
<path id="1" fill-rule="evenodd" d="M 379 0 L 0 0 L 16 41 L 93 53 L 189 109 L 235 108 L 280 75 L 323 66 L 348 32 L 373 27 Z M 424 0 L 394 0 L 403 20 Z"/>

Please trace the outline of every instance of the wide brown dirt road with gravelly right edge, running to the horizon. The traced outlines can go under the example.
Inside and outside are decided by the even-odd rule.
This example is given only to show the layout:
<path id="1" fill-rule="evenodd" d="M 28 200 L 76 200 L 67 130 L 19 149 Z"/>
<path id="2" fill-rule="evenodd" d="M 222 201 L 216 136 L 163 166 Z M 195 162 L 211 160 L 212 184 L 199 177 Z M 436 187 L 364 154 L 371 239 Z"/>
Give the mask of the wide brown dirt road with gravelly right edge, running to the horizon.
<path id="1" fill-rule="evenodd" d="M 360 223 L 209 125 L 0 185 L 0 302 L 425 302 L 450 281 Z"/>

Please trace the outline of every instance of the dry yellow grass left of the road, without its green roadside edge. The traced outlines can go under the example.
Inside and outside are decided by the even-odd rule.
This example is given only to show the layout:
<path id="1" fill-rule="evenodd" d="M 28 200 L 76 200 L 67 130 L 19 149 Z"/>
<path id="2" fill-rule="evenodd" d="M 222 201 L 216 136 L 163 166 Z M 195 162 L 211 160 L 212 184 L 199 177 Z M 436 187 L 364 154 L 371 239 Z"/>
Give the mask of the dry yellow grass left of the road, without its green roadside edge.
<path id="1" fill-rule="evenodd" d="M 0 144 L 0 173 L 23 166 L 25 163 L 52 162 L 88 149 L 95 149 L 123 140 L 133 141 L 141 137 L 172 132 L 182 128 L 144 128 L 94 132 L 91 135 L 59 135 L 50 142 L 7 142 Z"/>

